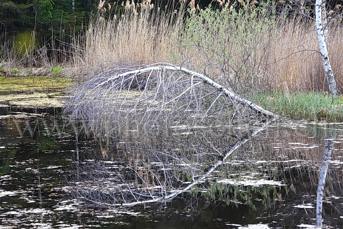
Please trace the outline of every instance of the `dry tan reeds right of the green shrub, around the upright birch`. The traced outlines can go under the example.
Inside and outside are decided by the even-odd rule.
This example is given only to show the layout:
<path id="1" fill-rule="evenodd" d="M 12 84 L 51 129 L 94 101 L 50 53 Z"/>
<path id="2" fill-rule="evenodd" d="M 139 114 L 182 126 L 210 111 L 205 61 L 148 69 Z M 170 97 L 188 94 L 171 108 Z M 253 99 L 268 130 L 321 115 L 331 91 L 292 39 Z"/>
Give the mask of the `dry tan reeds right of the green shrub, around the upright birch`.
<path id="1" fill-rule="evenodd" d="M 274 78 L 270 87 L 289 90 L 328 91 L 315 25 L 312 21 L 281 25 L 276 28 L 271 44 L 272 59 L 267 76 Z M 342 91 L 343 86 L 343 28 L 335 25 L 328 39 L 333 72 Z M 274 62 L 274 63 L 273 63 Z"/>

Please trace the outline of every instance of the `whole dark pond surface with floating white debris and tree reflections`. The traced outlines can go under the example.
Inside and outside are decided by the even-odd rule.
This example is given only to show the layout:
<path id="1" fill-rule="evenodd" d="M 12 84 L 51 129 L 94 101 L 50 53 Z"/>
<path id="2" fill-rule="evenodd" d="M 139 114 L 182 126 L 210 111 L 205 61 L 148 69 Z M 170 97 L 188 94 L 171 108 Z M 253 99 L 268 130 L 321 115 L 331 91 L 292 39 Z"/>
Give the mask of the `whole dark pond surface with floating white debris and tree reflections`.
<path id="1" fill-rule="evenodd" d="M 0 228 L 343 228 L 343 124 L 270 126 L 222 161 L 245 127 L 109 144 L 58 112 L 2 111 Z"/>

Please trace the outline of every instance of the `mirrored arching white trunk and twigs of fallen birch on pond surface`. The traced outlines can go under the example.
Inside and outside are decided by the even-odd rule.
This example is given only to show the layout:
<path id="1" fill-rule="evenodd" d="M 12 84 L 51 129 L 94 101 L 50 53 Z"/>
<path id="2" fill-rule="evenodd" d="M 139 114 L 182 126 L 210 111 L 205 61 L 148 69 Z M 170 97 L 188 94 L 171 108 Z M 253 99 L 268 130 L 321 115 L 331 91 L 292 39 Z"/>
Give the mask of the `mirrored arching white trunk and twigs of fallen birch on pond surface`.
<path id="1" fill-rule="evenodd" d="M 195 140 L 197 142 L 194 142 L 193 139 L 193 144 L 189 144 L 189 142 L 183 143 L 185 150 L 181 148 L 182 144 L 180 142 L 176 145 L 178 148 L 175 148 L 173 143 L 169 143 L 169 148 L 164 150 L 165 145 L 163 145 L 161 151 L 154 149 L 156 145 L 158 146 L 154 142 L 149 144 L 146 142 L 144 144 L 139 143 L 145 145 L 145 147 L 137 147 L 137 145 L 130 142 L 128 144 L 132 144 L 132 148 L 128 148 L 128 151 L 130 150 L 128 155 L 137 154 L 138 160 L 133 160 L 128 164 L 122 163 L 122 166 L 119 166 L 118 163 L 110 166 L 115 162 L 105 162 L 109 163 L 109 166 L 94 163 L 90 167 L 87 167 L 89 166 L 87 163 L 80 163 L 78 165 L 85 166 L 84 171 L 81 173 L 87 174 L 86 176 L 89 176 L 88 180 L 90 182 L 85 183 L 82 180 L 81 182 L 75 182 L 78 188 L 76 190 L 75 188 L 72 189 L 71 192 L 73 192 L 75 198 L 83 199 L 96 206 L 106 207 L 131 207 L 138 204 L 170 201 L 179 194 L 185 193 L 194 186 L 205 182 L 206 178 L 209 178 L 216 168 L 227 163 L 232 153 L 236 152 L 247 141 L 265 131 L 266 127 L 273 121 L 275 119 L 267 120 L 262 126 L 241 137 L 226 152 L 222 153 L 207 138 L 204 139 L 208 146 L 204 147 L 204 144 L 196 136 Z M 204 148 L 205 151 L 208 151 L 208 154 L 213 151 L 214 154 L 211 155 L 217 155 L 215 161 L 202 169 L 197 168 L 197 166 L 202 166 L 203 162 L 195 163 L 194 160 L 208 159 L 203 158 L 203 156 L 198 158 L 192 155 L 191 152 L 193 151 L 198 153 L 198 148 L 194 149 L 194 145 L 198 145 L 198 148 Z M 133 150 L 136 152 L 133 152 Z M 176 152 L 175 155 L 173 155 L 173 152 Z M 149 154 L 147 158 L 154 162 L 145 161 L 143 155 L 147 154 Z M 110 170 L 111 168 L 113 170 Z M 91 174 L 90 171 L 92 171 Z M 185 182 L 187 179 L 189 181 Z M 103 187 L 97 187 L 97 184 Z M 186 186 L 184 186 L 185 184 Z"/>

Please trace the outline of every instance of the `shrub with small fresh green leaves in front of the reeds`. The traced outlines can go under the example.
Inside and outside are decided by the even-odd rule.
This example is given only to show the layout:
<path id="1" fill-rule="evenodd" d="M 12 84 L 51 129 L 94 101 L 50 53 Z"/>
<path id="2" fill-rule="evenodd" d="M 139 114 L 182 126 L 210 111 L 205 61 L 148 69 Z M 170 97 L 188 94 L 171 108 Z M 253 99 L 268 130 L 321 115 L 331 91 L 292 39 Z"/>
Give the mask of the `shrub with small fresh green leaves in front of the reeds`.
<path id="1" fill-rule="evenodd" d="M 276 19 L 270 11 L 247 5 L 238 11 L 209 7 L 189 13 L 178 39 L 183 53 L 179 61 L 196 61 L 197 66 L 206 67 L 213 77 L 228 81 L 235 89 L 251 89 L 262 80 L 275 36 Z"/>

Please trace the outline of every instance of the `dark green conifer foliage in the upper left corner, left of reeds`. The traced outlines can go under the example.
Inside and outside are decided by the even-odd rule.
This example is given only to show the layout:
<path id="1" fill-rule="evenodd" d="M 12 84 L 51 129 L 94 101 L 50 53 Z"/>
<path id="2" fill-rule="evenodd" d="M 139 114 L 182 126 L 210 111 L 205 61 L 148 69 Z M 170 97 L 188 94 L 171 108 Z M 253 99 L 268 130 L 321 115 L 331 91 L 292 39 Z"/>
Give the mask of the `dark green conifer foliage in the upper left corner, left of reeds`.
<path id="1" fill-rule="evenodd" d="M 89 18 L 96 3 L 95 0 L 75 1 L 72 8 L 72 1 L 65 0 L 23 0 L 20 4 L 17 2 L 0 1 L 0 29 L 7 31 L 4 36 L 0 34 L 0 42 L 6 44 L 14 41 L 16 44 L 13 45 L 18 46 L 19 53 L 23 53 L 21 49 L 24 49 L 25 45 L 19 44 L 17 40 L 29 37 L 25 31 L 34 31 L 39 35 L 34 42 L 40 46 L 49 44 L 56 48 L 62 43 L 69 43 L 71 36 L 68 35 L 81 31 L 82 24 Z M 31 48 L 32 44 L 29 47 Z M 0 54 L 0 57 L 2 55 Z"/>

